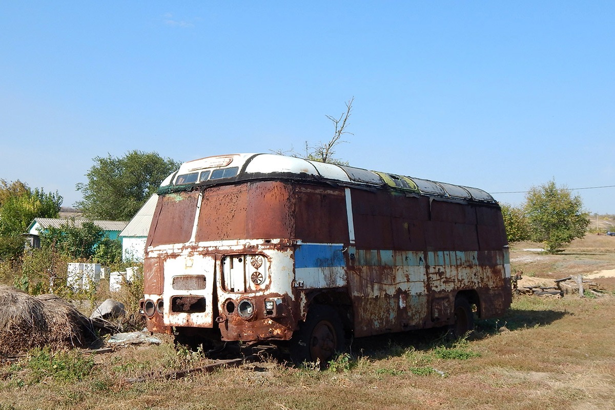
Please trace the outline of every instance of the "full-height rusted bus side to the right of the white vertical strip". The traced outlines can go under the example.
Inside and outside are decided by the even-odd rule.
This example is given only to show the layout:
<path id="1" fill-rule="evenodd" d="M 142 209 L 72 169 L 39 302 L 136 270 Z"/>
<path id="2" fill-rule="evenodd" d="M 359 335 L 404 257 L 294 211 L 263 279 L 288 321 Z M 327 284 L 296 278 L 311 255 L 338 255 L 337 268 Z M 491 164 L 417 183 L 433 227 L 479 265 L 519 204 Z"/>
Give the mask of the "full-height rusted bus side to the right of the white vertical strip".
<path id="1" fill-rule="evenodd" d="M 482 317 L 510 305 L 497 207 L 357 190 L 352 205 L 355 336 L 453 323 L 459 291 L 477 294 Z"/>

